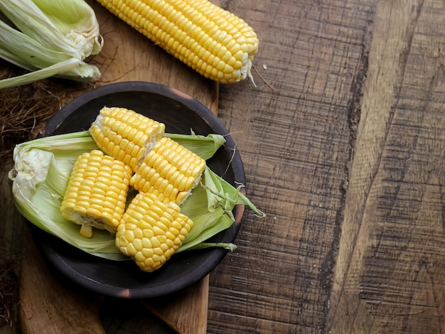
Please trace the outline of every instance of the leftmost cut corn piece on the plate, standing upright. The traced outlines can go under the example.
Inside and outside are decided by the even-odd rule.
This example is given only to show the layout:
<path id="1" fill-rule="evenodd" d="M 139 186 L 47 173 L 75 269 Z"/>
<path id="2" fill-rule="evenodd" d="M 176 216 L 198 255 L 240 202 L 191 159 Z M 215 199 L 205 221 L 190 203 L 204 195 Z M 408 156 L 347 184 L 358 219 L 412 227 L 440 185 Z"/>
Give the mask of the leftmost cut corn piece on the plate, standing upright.
<path id="1" fill-rule="evenodd" d="M 92 227 L 115 233 L 124 214 L 132 170 L 122 161 L 92 150 L 75 161 L 60 211 L 92 237 Z"/>

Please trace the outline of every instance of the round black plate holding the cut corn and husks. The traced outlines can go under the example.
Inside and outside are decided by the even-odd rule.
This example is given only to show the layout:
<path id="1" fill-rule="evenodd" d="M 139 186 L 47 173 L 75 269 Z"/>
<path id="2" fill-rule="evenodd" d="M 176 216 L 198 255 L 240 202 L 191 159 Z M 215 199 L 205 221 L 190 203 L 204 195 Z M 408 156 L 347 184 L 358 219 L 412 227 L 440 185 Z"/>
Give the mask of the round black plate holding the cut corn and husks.
<path id="1" fill-rule="evenodd" d="M 151 82 L 119 82 L 77 97 L 46 124 L 45 136 L 87 130 L 104 107 L 125 107 L 166 124 L 166 132 L 225 136 L 226 144 L 208 166 L 235 185 L 245 184 L 245 173 L 235 144 L 217 117 L 203 104 L 170 87 Z M 227 170 L 227 165 L 230 168 Z M 243 205 L 237 205 L 236 222 L 213 237 L 215 242 L 234 242 Z M 203 279 L 225 257 L 225 249 L 204 249 L 173 255 L 158 271 L 144 273 L 132 261 L 114 262 L 94 257 L 48 235 L 34 231 L 34 239 L 51 265 L 92 291 L 122 298 L 151 298 L 173 293 Z"/>

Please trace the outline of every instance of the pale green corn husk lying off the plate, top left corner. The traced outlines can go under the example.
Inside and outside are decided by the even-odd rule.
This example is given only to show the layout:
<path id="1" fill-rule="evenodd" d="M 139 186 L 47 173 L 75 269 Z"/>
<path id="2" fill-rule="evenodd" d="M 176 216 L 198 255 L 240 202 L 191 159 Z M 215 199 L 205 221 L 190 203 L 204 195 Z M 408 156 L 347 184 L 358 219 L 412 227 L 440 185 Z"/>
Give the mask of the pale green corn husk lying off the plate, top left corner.
<path id="1" fill-rule="evenodd" d="M 30 71 L 0 80 L 0 88 L 46 77 L 96 80 L 100 71 L 85 63 L 102 50 L 95 12 L 84 0 L 0 1 L 0 58 Z"/>

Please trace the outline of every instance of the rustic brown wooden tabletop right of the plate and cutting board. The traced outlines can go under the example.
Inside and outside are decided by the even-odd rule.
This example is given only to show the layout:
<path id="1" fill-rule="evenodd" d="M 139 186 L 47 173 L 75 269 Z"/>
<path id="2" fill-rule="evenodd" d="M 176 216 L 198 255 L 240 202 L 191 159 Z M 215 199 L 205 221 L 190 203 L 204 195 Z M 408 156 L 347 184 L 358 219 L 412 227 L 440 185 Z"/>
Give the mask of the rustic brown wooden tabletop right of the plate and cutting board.
<path id="1" fill-rule="evenodd" d="M 207 332 L 444 333 L 444 1 L 221 5 L 259 36 L 218 115 L 267 217 L 210 274 Z"/>

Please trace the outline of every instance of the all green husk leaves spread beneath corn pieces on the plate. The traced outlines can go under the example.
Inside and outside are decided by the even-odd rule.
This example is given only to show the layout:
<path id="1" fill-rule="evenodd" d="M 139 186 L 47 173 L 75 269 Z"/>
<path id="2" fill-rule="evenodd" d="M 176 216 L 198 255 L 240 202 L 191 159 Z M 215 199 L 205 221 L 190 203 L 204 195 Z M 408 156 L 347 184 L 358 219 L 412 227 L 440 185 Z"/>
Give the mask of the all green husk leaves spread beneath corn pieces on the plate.
<path id="1" fill-rule="evenodd" d="M 215 134 L 166 136 L 205 159 L 213 156 L 225 143 L 223 136 Z M 97 146 L 88 131 L 48 136 L 17 145 L 14 168 L 9 172 L 16 207 L 33 225 L 74 247 L 105 259 L 128 259 L 115 246 L 114 234 L 95 230 L 93 237 L 86 239 L 79 234 L 79 227 L 65 220 L 60 213 L 74 162 L 81 153 L 92 149 Z M 191 217 L 194 224 L 176 252 L 205 247 L 234 249 L 233 244 L 214 244 L 205 240 L 232 225 L 235 220 L 231 211 L 237 203 L 249 206 L 260 216 L 264 214 L 240 193 L 240 188 L 235 189 L 209 168 L 205 170 L 201 185 L 181 206 L 181 212 Z"/>

